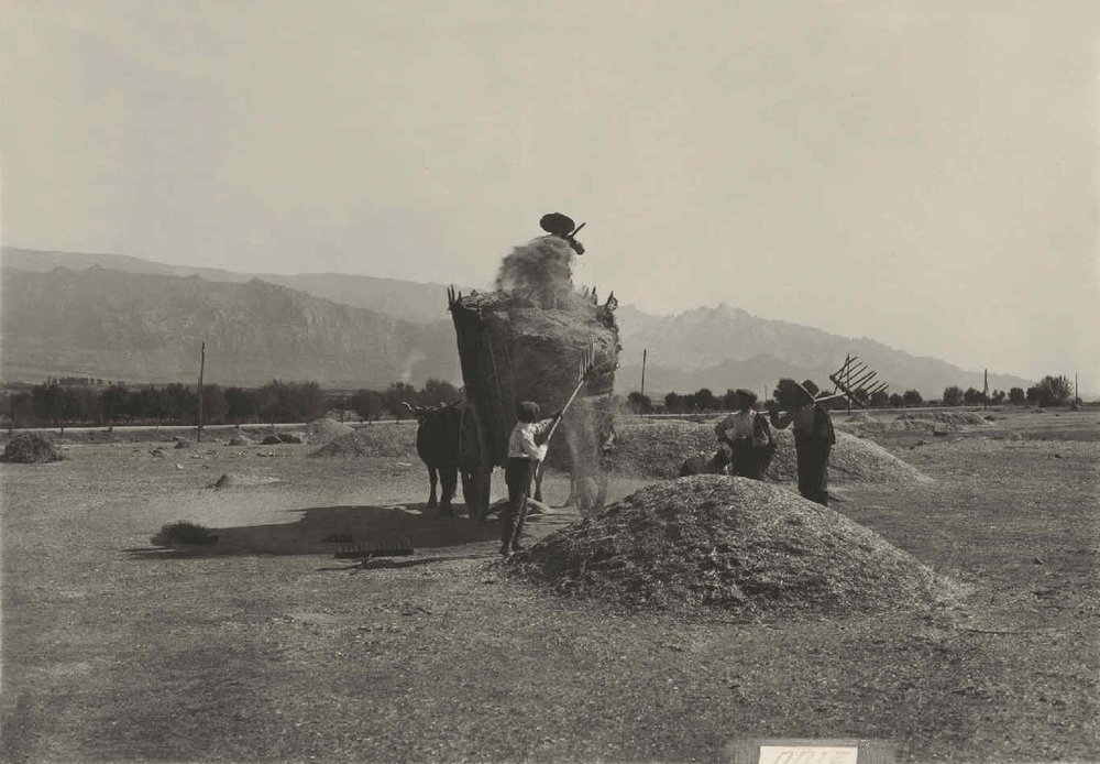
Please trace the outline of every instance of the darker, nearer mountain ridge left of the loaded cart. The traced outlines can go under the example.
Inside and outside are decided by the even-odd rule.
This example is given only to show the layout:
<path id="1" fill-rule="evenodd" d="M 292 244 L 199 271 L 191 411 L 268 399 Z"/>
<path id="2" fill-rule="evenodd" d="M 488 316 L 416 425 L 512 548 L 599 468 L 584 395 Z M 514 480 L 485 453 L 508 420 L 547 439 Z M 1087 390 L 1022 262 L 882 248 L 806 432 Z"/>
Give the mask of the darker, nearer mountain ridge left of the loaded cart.
<path id="1" fill-rule="evenodd" d="M 211 383 L 382 388 L 461 376 L 449 321 L 403 321 L 260 280 L 6 268 L 2 299 L 9 380 L 190 381 L 204 341 Z"/>

